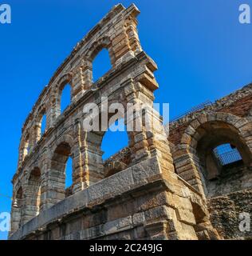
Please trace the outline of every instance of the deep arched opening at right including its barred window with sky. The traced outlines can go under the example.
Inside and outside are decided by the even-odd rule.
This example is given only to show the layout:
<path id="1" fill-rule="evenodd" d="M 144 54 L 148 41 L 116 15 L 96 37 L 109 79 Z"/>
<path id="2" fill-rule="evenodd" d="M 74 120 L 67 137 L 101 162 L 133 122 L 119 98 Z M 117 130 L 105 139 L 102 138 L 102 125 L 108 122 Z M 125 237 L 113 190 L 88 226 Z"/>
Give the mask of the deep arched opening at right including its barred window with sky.
<path id="1" fill-rule="evenodd" d="M 206 122 L 197 129 L 195 166 L 203 178 L 207 197 L 241 190 L 248 177 L 251 154 L 234 126 Z M 234 186 L 232 186 L 232 184 Z"/>

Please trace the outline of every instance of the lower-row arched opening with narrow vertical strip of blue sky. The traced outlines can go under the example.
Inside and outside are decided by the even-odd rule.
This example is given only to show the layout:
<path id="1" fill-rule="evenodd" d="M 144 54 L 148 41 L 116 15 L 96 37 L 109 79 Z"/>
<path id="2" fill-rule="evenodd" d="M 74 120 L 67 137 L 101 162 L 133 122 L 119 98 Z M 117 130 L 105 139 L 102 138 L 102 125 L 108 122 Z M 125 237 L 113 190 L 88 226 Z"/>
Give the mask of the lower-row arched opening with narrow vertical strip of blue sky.
<path id="1" fill-rule="evenodd" d="M 50 178 L 53 180 L 52 190 L 55 192 L 55 203 L 72 194 L 73 164 L 71 158 L 71 147 L 67 142 L 61 142 L 53 154 L 50 171 Z"/>

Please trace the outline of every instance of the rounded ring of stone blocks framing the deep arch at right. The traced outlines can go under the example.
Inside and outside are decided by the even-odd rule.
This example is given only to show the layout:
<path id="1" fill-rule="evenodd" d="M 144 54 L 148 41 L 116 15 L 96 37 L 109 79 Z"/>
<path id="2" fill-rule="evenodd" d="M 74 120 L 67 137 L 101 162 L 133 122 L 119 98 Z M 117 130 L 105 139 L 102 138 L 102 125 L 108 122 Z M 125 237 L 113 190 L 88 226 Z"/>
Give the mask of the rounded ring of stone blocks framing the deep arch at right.
<path id="1" fill-rule="evenodd" d="M 180 146 L 175 150 L 176 170 L 195 188 L 209 194 L 208 180 L 218 177 L 222 168 L 215 162 L 212 150 L 224 143 L 231 143 L 241 154 L 245 166 L 250 166 L 250 139 L 250 123 L 246 118 L 220 112 L 202 114 L 187 127 Z"/>

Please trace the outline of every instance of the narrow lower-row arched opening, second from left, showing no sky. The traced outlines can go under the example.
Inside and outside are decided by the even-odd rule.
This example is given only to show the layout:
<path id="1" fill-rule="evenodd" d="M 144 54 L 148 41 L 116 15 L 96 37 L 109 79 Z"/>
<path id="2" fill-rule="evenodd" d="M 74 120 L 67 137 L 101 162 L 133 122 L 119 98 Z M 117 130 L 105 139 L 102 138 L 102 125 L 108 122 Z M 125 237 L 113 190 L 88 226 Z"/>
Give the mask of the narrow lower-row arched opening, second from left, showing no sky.
<path id="1" fill-rule="evenodd" d="M 28 186 L 26 190 L 26 208 L 27 216 L 26 219 L 37 216 L 40 211 L 41 206 L 41 170 L 35 167 L 30 172 L 30 177 L 28 180 Z"/>

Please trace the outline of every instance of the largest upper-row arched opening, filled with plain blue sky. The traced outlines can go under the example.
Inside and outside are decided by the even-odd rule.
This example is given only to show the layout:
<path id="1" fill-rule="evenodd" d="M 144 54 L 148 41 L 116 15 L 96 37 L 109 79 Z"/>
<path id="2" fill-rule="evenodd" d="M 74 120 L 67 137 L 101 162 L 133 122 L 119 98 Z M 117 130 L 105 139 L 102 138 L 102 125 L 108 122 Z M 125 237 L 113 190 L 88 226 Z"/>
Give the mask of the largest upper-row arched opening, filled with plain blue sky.
<path id="1" fill-rule="evenodd" d="M 104 48 L 93 59 L 93 82 L 106 74 L 111 67 L 108 50 Z"/>

